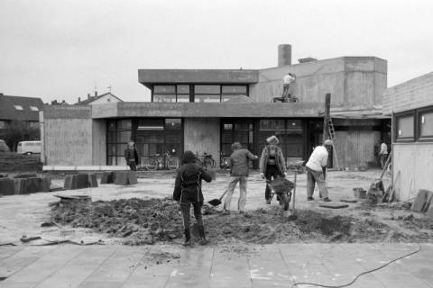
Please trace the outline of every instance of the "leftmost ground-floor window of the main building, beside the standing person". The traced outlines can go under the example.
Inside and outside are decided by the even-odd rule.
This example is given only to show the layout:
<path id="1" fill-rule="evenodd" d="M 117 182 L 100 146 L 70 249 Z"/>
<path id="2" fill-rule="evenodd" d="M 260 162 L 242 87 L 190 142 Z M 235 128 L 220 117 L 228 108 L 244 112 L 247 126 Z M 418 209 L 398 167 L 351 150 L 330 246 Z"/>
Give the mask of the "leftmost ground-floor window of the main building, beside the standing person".
<path id="1" fill-rule="evenodd" d="M 107 165 L 124 166 L 124 149 L 132 139 L 131 119 L 108 121 L 106 151 Z"/>

